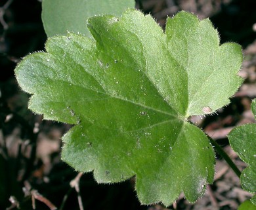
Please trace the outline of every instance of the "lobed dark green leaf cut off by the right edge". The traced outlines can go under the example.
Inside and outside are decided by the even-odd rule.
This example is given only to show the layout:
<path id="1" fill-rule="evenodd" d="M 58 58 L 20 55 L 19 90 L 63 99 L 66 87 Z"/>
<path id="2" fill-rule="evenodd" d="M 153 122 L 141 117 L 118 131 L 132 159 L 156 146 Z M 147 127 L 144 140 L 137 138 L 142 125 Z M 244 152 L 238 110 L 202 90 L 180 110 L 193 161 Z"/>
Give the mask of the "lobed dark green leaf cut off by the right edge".
<path id="1" fill-rule="evenodd" d="M 256 117 L 256 100 L 251 103 L 251 110 Z M 238 156 L 249 166 L 242 171 L 240 177 L 242 187 L 256 193 L 256 124 L 236 127 L 229 134 L 229 142 Z M 255 198 L 251 200 L 255 205 Z"/>

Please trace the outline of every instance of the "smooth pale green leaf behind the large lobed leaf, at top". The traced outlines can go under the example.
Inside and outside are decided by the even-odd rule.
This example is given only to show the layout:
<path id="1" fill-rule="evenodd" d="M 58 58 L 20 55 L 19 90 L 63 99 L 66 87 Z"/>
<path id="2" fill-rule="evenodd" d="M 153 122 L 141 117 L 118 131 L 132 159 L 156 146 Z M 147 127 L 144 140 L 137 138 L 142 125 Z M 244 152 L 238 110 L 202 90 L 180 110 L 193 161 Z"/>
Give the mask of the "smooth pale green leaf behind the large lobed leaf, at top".
<path id="1" fill-rule="evenodd" d="M 67 31 L 90 35 L 87 19 L 99 14 L 121 15 L 134 8 L 134 0 L 43 0 L 42 20 L 48 37 L 66 35 Z"/>

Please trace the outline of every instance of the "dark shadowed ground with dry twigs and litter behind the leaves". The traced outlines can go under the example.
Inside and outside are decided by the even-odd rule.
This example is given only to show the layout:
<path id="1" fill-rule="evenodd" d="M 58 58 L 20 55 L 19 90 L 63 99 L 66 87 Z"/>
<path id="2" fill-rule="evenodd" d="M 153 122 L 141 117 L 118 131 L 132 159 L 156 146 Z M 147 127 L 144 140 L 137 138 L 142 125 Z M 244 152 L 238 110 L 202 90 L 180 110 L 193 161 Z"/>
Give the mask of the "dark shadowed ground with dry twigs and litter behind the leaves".
<path id="1" fill-rule="evenodd" d="M 226 135 L 236 125 L 253 123 L 251 99 L 256 96 L 256 2 L 254 0 L 144 0 L 137 8 L 151 13 L 164 28 L 167 16 L 191 11 L 219 30 L 221 42 L 242 45 L 244 85 L 218 114 L 191 120 L 217 140 L 240 169 L 246 167 L 230 149 Z M 27 110 L 28 98 L 14 77 L 16 63 L 26 54 L 43 51 L 47 37 L 41 2 L 0 1 L 0 210 L 1 209 L 164 209 L 140 205 L 135 178 L 119 184 L 96 184 L 91 173 L 79 175 L 60 160 L 60 137 L 69 125 L 44 121 Z M 72 181 L 73 180 L 73 181 Z M 70 182 L 73 185 L 70 185 Z M 73 186 L 73 187 L 72 187 Z M 215 183 L 194 203 L 180 196 L 169 209 L 238 209 L 251 194 L 217 154 Z"/>

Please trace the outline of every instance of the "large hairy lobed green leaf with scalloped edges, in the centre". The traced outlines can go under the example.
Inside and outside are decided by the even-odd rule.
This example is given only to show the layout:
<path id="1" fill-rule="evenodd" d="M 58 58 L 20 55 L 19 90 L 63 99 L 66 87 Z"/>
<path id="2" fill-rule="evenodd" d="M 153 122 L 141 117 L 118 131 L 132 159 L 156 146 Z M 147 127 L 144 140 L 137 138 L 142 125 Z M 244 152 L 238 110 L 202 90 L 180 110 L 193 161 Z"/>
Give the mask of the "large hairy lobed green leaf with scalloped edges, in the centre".
<path id="1" fill-rule="evenodd" d="M 209 20 L 179 12 L 166 33 L 152 16 L 90 18 L 94 39 L 68 33 L 47 53 L 26 56 L 16 78 L 29 107 L 75 126 L 62 138 L 62 159 L 97 182 L 137 177 L 141 203 L 170 205 L 181 192 L 194 202 L 213 182 L 215 155 L 190 124 L 227 104 L 242 83 L 239 45 L 219 46 Z"/>

